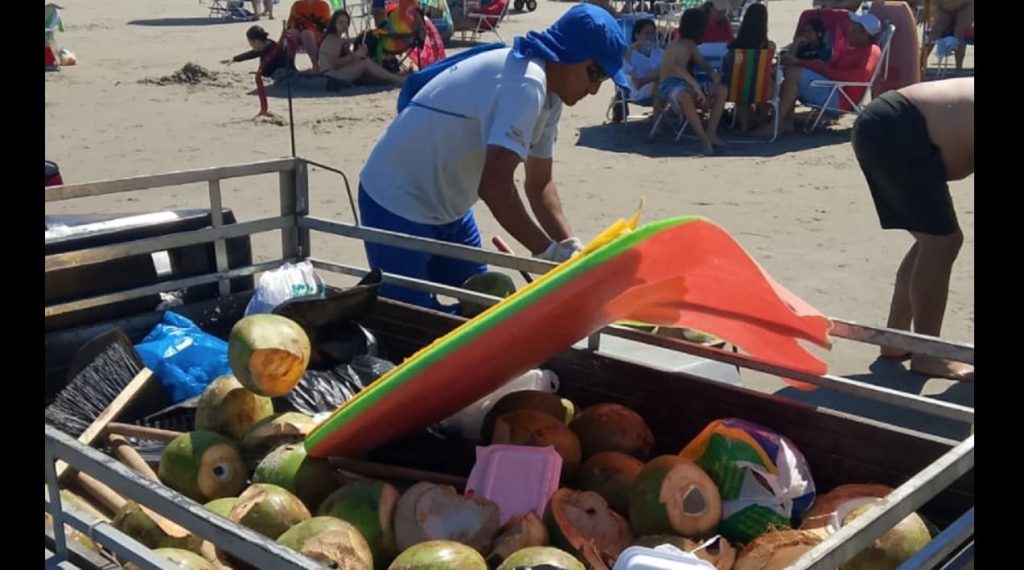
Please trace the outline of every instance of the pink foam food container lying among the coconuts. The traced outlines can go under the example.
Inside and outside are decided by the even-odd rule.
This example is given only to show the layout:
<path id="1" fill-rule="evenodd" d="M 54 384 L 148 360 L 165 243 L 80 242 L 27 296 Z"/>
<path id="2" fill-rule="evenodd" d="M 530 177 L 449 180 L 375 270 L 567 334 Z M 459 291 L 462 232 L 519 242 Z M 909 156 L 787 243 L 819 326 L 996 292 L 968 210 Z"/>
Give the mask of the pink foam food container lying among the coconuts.
<path id="1" fill-rule="evenodd" d="M 488 445 L 476 448 L 476 464 L 469 474 L 466 496 L 495 501 L 502 524 L 532 511 L 544 517 L 551 495 L 558 490 L 562 456 L 554 447 Z"/>

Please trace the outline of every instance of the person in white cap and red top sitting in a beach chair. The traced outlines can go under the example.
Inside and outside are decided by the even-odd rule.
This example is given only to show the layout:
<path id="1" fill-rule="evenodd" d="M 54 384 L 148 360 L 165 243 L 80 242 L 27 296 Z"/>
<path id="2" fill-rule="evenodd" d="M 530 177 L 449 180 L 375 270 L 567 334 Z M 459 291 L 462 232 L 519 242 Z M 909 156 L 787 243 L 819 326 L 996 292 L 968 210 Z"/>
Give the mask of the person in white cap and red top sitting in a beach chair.
<path id="1" fill-rule="evenodd" d="M 838 91 L 833 93 L 830 87 L 814 87 L 811 85 L 813 82 L 867 81 L 871 78 L 874 67 L 882 56 L 882 50 L 874 45 L 874 37 L 881 31 L 882 23 L 874 14 L 851 12 L 850 28 L 846 33 L 849 47 L 827 63 L 817 59 L 798 59 L 792 53 L 782 54 L 779 62 L 785 65 L 785 74 L 779 97 L 780 132 L 793 132 L 793 115 L 797 107 L 797 99 L 815 107 L 840 108 L 842 95 Z M 828 98 L 829 93 L 833 93 L 831 98 Z M 851 87 L 847 89 L 847 93 L 856 101 L 863 95 L 864 88 Z"/>

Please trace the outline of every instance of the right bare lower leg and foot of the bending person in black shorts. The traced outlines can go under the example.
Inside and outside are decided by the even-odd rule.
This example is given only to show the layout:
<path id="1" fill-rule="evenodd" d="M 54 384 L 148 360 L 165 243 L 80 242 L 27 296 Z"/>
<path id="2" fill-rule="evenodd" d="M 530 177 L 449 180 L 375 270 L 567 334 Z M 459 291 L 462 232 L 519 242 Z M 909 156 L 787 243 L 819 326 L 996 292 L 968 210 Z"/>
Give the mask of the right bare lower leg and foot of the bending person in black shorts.
<path id="1" fill-rule="evenodd" d="M 913 330 L 938 337 L 949 297 L 949 275 L 964 245 L 964 234 L 957 230 L 949 235 L 914 232 L 913 236 L 918 239 L 916 260 L 910 273 Z M 931 377 L 974 382 L 974 366 L 922 354 L 911 357 L 910 369 Z"/>

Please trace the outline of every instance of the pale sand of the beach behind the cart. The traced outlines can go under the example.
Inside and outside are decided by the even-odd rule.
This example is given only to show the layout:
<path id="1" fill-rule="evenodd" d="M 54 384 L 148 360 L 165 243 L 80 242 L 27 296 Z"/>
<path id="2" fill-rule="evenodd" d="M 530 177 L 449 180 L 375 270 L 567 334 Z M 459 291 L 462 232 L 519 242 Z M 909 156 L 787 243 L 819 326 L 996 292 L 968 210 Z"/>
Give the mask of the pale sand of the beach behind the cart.
<path id="1" fill-rule="evenodd" d="M 259 105 L 251 72 L 256 62 L 218 61 L 245 51 L 249 23 L 207 17 L 196 0 L 61 0 L 66 32 L 57 41 L 79 63 L 46 75 L 46 158 L 68 183 L 240 164 L 289 156 L 288 103 L 274 90 L 270 111 L 280 120 L 254 121 Z M 540 0 L 534 12 L 514 13 L 502 27 L 510 41 L 543 29 L 571 4 Z M 279 19 L 261 23 L 271 36 Z M 773 0 L 770 37 L 787 43 L 809 0 Z M 493 41 L 485 36 L 481 41 Z M 451 51 L 451 50 L 450 50 Z M 299 56 L 300 68 L 308 65 Z M 195 62 L 217 77 L 197 85 L 159 78 Z M 968 51 L 973 69 L 973 48 Z M 167 83 L 167 82 L 164 82 Z M 771 144 L 737 144 L 727 155 L 697 157 L 693 140 L 673 142 L 666 132 L 647 139 L 650 123 L 611 124 L 605 117 L 612 87 L 566 107 L 555 151 L 555 177 L 575 232 L 587 240 L 632 214 L 644 200 L 644 219 L 701 215 L 734 235 L 779 282 L 827 315 L 885 324 L 896 267 L 911 237 L 884 231 L 850 146 L 852 118 L 818 133 Z M 371 146 L 394 116 L 397 90 L 353 88 L 300 94 L 294 99 L 296 152 L 344 170 L 353 184 Z M 643 109 L 635 109 L 640 113 Z M 723 131 L 726 138 L 734 138 Z M 519 170 L 521 181 L 522 170 Z M 311 212 L 351 221 L 338 177 L 310 176 Z M 966 235 L 953 269 L 943 337 L 974 342 L 974 177 L 950 185 Z M 275 177 L 224 182 L 225 206 L 240 220 L 278 208 Z M 49 205 L 47 213 L 143 212 L 198 208 L 205 186 L 140 191 Z M 476 209 L 485 242 L 500 228 L 482 205 Z M 256 240 L 268 259 L 278 236 Z M 261 249 L 265 248 L 264 251 Z M 361 247 L 316 237 L 317 257 L 365 265 Z M 866 345 L 838 341 L 827 359 L 834 374 L 885 383 L 913 393 L 940 394 L 973 405 L 973 387 L 923 379 L 903 365 L 874 362 Z M 754 380 L 765 390 L 777 381 Z M 748 382 L 744 376 L 744 382 Z M 788 391 L 786 391 L 788 393 Z M 816 403 L 828 403 L 819 393 Z"/>

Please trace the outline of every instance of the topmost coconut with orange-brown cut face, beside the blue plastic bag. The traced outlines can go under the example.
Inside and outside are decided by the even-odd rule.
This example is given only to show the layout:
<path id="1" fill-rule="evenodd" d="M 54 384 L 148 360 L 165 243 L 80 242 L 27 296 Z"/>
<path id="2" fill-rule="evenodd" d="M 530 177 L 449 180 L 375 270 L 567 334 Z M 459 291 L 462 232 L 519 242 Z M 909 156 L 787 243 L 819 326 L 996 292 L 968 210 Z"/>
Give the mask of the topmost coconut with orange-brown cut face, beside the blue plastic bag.
<path id="1" fill-rule="evenodd" d="M 231 371 L 247 389 L 275 398 L 295 388 L 309 365 L 309 337 L 294 320 L 249 315 L 234 323 L 227 342 Z"/>

